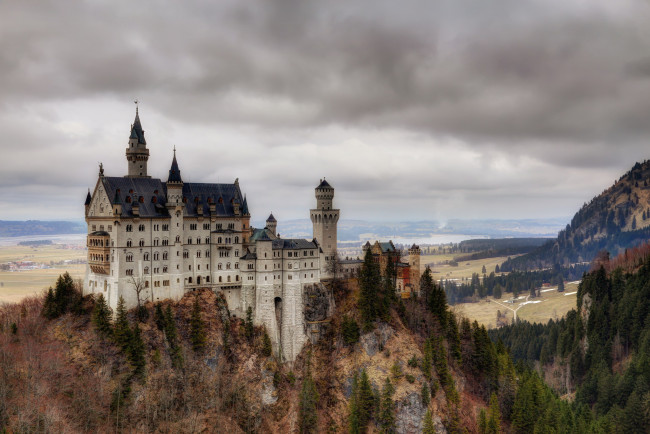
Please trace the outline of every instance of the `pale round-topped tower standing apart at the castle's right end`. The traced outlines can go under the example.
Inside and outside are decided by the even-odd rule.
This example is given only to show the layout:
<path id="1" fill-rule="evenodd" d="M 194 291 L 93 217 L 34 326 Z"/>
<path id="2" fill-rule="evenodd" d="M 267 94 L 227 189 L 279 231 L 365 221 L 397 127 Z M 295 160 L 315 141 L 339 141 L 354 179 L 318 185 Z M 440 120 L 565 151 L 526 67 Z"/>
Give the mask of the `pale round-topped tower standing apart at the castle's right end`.
<path id="1" fill-rule="evenodd" d="M 336 257 L 336 225 L 339 221 L 340 210 L 332 208 L 334 200 L 334 188 L 321 179 L 316 187 L 316 208 L 310 210 L 311 222 L 314 227 L 314 238 L 318 240 L 323 250 L 324 258 L 321 258 L 321 275 L 330 277 L 327 272 L 327 264 Z"/>

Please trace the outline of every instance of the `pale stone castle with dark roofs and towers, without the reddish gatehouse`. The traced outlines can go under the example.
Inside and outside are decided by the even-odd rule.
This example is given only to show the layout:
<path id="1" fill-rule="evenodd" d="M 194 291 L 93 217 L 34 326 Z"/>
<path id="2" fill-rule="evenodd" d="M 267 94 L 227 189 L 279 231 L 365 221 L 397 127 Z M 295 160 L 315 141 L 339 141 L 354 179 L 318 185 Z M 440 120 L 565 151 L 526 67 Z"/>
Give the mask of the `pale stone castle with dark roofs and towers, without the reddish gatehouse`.
<path id="1" fill-rule="evenodd" d="M 209 288 L 221 292 L 233 315 L 248 308 L 264 325 L 275 353 L 294 360 L 308 339 L 303 299 L 322 292 L 336 257 L 340 211 L 334 188 L 320 181 L 310 210 L 313 239 L 286 239 L 271 214 L 253 228 L 239 181 L 184 182 L 176 150 L 167 181 L 148 175 L 149 149 L 136 108 L 126 148 L 128 172 L 99 178 L 85 202 L 88 265 L 84 293 L 103 294 L 115 309 L 179 299 Z"/>

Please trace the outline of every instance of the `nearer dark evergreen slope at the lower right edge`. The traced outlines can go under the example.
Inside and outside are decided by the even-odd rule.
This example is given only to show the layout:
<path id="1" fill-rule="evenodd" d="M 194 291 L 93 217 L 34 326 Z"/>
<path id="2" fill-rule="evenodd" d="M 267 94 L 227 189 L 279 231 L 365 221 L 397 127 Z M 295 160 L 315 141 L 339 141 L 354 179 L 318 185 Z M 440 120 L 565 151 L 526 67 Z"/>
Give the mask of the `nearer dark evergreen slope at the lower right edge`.
<path id="1" fill-rule="evenodd" d="M 594 432 L 648 432 L 650 246 L 600 265 L 565 318 L 489 334 L 513 358 L 538 366 L 557 392 L 575 397 L 576 411 L 590 409 Z"/>

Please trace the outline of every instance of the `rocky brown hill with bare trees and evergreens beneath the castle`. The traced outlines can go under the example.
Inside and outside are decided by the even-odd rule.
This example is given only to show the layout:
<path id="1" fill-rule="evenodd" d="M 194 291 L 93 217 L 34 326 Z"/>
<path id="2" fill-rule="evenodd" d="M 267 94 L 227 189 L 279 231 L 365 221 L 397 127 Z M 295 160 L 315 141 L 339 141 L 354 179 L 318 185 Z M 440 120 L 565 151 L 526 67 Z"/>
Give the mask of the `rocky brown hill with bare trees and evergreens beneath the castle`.
<path id="1" fill-rule="evenodd" d="M 0 431 L 477 432 L 490 395 L 490 420 L 510 423 L 517 385 L 508 356 L 446 307 L 432 314 L 421 300 L 395 300 L 360 333 L 352 285 L 337 291 L 318 345 L 279 364 L 264 330 L 231 317 L 211 291 L 149 303 L 146 318 L 118 310 L 102 329 L 101 303 L 59 291 L 67 281 L 45 304 L 0 306 Z"/>

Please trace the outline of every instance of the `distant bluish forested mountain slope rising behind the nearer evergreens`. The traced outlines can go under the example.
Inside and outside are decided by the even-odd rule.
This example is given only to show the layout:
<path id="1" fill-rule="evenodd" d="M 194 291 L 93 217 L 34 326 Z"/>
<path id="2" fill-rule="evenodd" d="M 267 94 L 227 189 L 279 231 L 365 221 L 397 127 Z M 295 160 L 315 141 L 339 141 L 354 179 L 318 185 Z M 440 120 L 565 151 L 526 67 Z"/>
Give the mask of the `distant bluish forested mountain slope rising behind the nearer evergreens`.
<path id="1" fill-rule="evenodd" d="M 601 250 L 612 256 L 650 238 L 650 161 L 636 163 L 610 188 L 582 206 L 571 223 L 531 253 L 501 270 L 530 270 L 590 262 Z"/>

